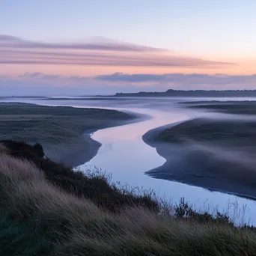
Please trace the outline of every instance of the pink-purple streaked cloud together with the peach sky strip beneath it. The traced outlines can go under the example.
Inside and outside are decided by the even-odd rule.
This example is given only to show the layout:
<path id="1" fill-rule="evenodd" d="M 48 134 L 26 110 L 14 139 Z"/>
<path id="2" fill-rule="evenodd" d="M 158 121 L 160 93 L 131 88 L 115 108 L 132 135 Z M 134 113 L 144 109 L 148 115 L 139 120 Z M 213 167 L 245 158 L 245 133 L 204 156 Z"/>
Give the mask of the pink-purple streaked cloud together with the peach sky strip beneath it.
<path id="1" fill-rule="evenodd" d="M 256 58 L 186 55 L 171 49 L 98 40 L 45 43 L 0 35 L 0 74 L 40 72 L 70 76 L 123 73 L 255 73 Z"/>

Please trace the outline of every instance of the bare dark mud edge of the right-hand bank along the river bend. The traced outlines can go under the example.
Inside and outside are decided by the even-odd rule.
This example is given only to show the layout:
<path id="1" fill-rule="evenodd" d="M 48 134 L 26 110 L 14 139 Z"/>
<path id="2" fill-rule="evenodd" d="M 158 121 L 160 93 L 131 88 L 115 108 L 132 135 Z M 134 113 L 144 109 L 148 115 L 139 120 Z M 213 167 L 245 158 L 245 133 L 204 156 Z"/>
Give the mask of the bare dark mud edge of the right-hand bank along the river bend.
<path id="1" fill-rule="evenodd" d="M 207 177 L 207 173 L 203 176 L 200 171 L 197 171 L 196 168 L 193 168 L 191 165 L 186 165 L 186 162 L 183 161 L 180 164 L 183 165 L 180 167 L 179 172 L 171 172 L 173 165 L 177 167 L 175 158 L 178 158 L 177 150 L 182 150 L 182 146 L 179 144 L 171 144 L 168 142 L 159 142 L 156 140 L 156 137 L 165 129 L 170 129 L 178 124 L 191 120 L 186 119 L 184 121 L 176 122 L 174 124 L 167 124 L 162 127 L 156 127 L 155 129 L 150 129 L 142 136 L 144 143 L 148 144 L 150 147 L 156 148 L 156 152 L 159 156 L 162 156 L 165 159 L 165 163 L 159 167 L 153 168 L 149 171 L 146 171 L 144 174 L 149 175 L 150 177 L 162 180 L 170 180 L 178 183 L 184 183 L 191 186 L 198 186 L 203 189 L 207 189 L 210 192 L 222 192 L 229 195 L 237 195 L 241 198 L 247 198 L 252 201 L 256 201 L 256 191 L 250 187 L 241 185 L 239 183 L 232 183 L 232 181 L 224 182 L 221 177 L 216 177 L 210 179 Z M 180 147 L 177 149 L 177 147 Z M 182 160 L 177 159 L 177 160 Z M 192 168 L 192 171 L 183 173 L 184 168 Z M 242 177 L 241 177 L 242 178 Z"/>

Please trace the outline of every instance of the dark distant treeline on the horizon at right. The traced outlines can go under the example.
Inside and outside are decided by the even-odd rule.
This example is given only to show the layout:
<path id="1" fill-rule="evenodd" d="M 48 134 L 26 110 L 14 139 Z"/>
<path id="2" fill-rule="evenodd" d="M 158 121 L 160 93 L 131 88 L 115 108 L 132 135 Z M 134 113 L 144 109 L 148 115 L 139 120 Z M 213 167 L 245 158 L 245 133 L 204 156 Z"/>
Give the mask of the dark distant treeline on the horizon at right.
<path id="1" fill-rule="evenodd" d="M 172 90 L 164 92 L 146 92 L 138 93 L 117 93 L 116 97 L 256 97 L 256 90 L 225 90 L 225 91 L 204 91 L 204 90 Z"/>

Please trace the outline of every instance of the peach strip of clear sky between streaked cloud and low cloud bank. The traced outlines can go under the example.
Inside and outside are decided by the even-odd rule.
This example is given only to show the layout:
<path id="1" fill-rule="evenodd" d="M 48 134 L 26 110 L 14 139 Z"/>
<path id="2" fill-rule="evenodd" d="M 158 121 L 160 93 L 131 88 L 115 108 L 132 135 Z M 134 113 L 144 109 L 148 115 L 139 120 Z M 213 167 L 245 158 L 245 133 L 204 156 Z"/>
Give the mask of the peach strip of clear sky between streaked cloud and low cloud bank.
<path id="1" fill-rule="evenodd" d="M 211 60 L 216 61 L 216 60 Z M 217 60 L 219 61 L 219 60 Z M 255 60 L 232 60 L 236 65 L 225 67 L 118 67 L 118 66 L 81 66 L 58 64 L 0 64 L 0 75 L 18 76 L 26 72 L 41 72 L 52 75 L 97 76 L 122 73 L 224 73 L 228 75 L 251 75 L 256 73 Z"/>

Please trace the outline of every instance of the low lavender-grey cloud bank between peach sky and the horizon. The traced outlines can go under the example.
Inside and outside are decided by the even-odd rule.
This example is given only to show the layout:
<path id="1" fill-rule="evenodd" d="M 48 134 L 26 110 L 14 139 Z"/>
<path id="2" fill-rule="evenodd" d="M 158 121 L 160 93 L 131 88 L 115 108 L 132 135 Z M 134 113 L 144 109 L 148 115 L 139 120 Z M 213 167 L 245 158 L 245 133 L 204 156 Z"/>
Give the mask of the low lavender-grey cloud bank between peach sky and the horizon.
<path id="1" fill-rule="evenodd" d="M 72 91 L 77 94 L 113 94 L 115 92 L 137 91 L 166 91 L 169 88 L 194 89 L 255 89 L 256 74 L 250 76 L 228 76 L 222 74 L 184 74 L 166 73 L 156 74 L 125 74 L 114 73 L 101 76 L 61 76 L 44 73 L 24 73 L 20 76 L 0 76 L 0 94 L 5 91 L 34 91 L 45 88 L 47 94 L 61 90 Z M 29 89 L 28 89 L 29 88 Z M 47 88 L 47 89 L 46 89 Z M 64 92 L 63 91 L 63 92 Z"/>

